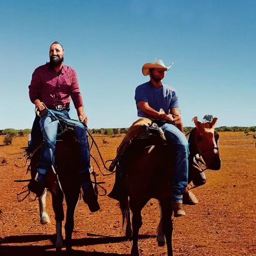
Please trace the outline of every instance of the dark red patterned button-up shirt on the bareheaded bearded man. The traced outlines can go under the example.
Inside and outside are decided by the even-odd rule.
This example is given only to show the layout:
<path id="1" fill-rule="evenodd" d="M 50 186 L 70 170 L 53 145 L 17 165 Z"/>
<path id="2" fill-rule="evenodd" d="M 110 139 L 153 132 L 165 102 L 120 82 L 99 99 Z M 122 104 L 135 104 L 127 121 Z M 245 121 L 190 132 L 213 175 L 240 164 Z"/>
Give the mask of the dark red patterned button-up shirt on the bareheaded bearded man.
<path id="1" fill-rule="evenodd" d="M 64 64 L 59 72 L 51 69 L 49 63 L 38 66 L 28 88 L 32 103 L 38 98 L 46 106 L 64 105 L 70 102 L 71 96 L 76 109 L 83 105 L 77 74 L 74 68 Z"/>

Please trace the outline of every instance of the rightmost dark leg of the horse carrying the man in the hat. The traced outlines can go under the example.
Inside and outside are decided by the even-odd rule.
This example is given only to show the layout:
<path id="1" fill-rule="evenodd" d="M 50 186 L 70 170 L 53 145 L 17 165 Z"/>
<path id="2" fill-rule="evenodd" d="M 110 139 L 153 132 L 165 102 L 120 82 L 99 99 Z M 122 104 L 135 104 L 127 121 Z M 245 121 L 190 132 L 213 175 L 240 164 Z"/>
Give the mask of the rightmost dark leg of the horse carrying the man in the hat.
<path id="1" fill-rule="evenodd" d="M 163 234 L 165 236 L 166 245 L 167 245 L 167 255 L 173 256 L 172 252 L 172 207 L 171 207 L 171 199 L 165 198 L 160 200 L 160 207 L 161 207 L 161 228 Z"/>

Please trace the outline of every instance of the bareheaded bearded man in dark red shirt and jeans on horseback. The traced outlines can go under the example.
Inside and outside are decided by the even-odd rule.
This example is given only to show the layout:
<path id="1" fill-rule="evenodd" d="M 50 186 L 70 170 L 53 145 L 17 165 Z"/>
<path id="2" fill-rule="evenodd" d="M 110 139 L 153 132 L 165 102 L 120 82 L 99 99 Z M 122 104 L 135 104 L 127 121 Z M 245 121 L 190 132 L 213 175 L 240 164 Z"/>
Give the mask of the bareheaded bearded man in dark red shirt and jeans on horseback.
<path id="1" fill-rule="evenodd" d="M 43 134 L 43 144 L 41 147 L 41 156 L 37 164 L 37 173 L 34 179 L 28 184 L 28 189 L 40 197 L 44 191 L 43 180 L 48 169 L 54 166 L 54 150 L 57 136 L 58 119 L 64 119 L 65 122 L 76 132 L 76 138 L 79 142 L 79 149 L 82 159 L 82 167 L 79 170 L 79 178 L 83 191 L 82 198 L 87 203 L 89 209 L 99 210 L 97 196 L 94 192 L 90 179 L 90 154 L 85 124 L 88 117 L 83 112 L 83 100 L 79 90 L 78 78 L 74 68 L 63 63 L 64 50 L 60 43 L 53 42 L 49 48 L 49 62 L 37 67 L 33 74 L 29 88 L 29 97 L 35 104 L 36 111 L 39 111 L 40 117 L 35 118 L 31 137 L 32 142 L 36 128 L 40 126 Z M 68 111 L 70 97 L 76 108 L 79 121 L 71 120 Z M 50 109 L 46 111 L 45 106 Z M 39 125 L 38 125 L 39 120 Z"/>

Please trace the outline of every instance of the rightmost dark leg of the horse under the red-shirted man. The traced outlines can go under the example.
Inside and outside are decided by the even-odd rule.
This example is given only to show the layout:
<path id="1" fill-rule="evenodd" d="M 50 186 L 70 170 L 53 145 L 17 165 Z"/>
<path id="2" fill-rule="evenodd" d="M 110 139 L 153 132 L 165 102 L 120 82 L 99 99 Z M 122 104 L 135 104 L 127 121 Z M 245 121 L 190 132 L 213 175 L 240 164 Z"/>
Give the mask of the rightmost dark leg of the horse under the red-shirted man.
<path id="1" fill-rule="evenodd" d="M 74 210 L 76 203 L 79 198 L 79 191 L 74 192 L 72 196 L 69 195 L 66 198 L 66 222 L 65 222 L 65 245 L 66 253 L 70 254 L 72 252 L 72 232 L 74 228 Z"/>

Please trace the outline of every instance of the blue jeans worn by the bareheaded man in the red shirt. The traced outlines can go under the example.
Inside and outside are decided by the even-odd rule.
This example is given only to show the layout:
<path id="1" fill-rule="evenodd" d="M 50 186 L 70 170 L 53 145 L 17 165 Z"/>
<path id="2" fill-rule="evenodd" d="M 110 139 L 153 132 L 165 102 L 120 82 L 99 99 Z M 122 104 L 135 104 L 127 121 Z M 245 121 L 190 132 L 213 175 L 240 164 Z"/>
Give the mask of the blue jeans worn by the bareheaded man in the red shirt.
<path id="1" fill-rule="evenodd" d="M 49 110 L 44 116 L 40 118 L 40 128 L 43 135 L 43 144 L 41 148 L 41 157 L 37 163 L 36 180 L 39 182 L 42 181 L 51 165 L 53 168 L 55 168 L 54 152 L 59 123 L 56 117 L 60 120 L 60 122 L 63 120 L 67 122 L 69 126 L 74 128 L 81 155 L 81 169 L 79 170 L 79 175 L 85 174 L 87 178 L 89 178 L 90 153 L 84 125 L 79 121 L 71 120 L 66 110 Z M 84 185 L 87 186 L 87 184 Z"/>

